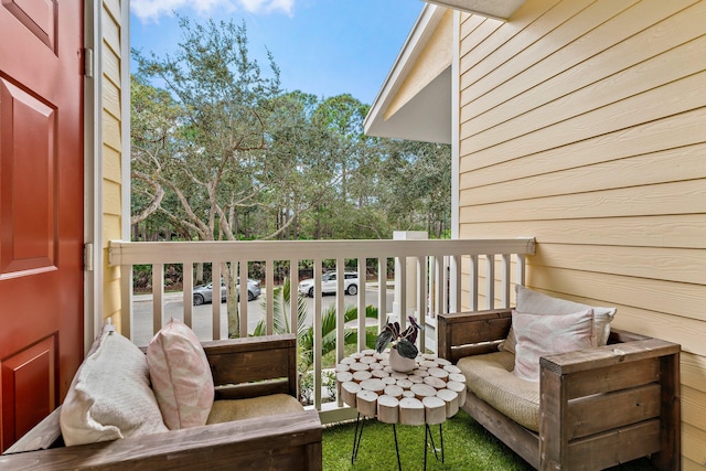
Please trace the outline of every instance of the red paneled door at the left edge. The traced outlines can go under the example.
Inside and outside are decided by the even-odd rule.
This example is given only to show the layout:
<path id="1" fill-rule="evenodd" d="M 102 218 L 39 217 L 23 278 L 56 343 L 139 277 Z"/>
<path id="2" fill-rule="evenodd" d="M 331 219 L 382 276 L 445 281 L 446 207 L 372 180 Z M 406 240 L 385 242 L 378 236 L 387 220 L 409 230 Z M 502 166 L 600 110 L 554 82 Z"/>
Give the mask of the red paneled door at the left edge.
<path id="1" fill-rule="evenodd" d="M 0 1 L 0 450 L 83 357 L 83 10 Z"/>

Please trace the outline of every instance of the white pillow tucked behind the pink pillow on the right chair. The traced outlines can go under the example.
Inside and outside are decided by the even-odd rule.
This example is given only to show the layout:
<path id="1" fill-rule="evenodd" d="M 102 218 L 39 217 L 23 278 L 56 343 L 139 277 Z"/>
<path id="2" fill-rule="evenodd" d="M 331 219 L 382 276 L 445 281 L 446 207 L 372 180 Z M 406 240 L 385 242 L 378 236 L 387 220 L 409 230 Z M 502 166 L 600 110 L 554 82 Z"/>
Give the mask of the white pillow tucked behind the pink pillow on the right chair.
<path id="1" fill-rule="evenodd" d="M 516 286 L 516 292 L 517 306 L 515 309 L 518 312 L 558 315 L 571 314 L 574 312 L 592 309 L 595 322 L 593 331 L 596 333 L 598 346 L 602 346 L 608 343 L 608 336 L 610 335 L 610 322 L 612 322 L 616 317 L 616 308 L 598 308 L 581 304 L 579 302 L 567 301 L 566 299 L 553 298 L 520 285 Z M 514 328 L 511 328 L 507 339 L 499 345 L 499 349 L 505 352 L 515 353 L 515 343 Z"/>

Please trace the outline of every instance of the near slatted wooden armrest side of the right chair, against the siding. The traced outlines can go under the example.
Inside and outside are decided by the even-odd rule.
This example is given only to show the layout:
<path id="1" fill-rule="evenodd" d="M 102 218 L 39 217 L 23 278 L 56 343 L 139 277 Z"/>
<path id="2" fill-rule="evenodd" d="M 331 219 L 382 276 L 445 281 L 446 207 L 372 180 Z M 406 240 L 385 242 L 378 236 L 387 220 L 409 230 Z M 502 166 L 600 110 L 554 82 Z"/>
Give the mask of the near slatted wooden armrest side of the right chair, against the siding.
<path id="1" fill-rule="evenodd" d="M 680 469 L 680 351 L 646 339 L 542 357 L 543 469 L 587 460 L 603 469 L 644 454 Z"/>

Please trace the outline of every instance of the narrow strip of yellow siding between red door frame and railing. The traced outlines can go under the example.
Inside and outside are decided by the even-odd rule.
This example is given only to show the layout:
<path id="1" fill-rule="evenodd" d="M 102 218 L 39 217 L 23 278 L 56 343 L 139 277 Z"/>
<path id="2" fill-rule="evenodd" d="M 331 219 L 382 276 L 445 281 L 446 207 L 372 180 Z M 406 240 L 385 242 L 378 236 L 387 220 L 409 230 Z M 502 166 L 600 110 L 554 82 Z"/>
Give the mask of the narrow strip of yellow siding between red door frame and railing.
<path id="1" fill-rule="evenodd" d="M 120 327 L 120 270 L 108 266 L 108 240 L 122 238 L 122 44 L 121 1 L 101 2 L 101 33 L 99 57 L 103 72 L 103 317 L 113 318 Z M 126 58 L 127 60 L 127 58 Z"/>

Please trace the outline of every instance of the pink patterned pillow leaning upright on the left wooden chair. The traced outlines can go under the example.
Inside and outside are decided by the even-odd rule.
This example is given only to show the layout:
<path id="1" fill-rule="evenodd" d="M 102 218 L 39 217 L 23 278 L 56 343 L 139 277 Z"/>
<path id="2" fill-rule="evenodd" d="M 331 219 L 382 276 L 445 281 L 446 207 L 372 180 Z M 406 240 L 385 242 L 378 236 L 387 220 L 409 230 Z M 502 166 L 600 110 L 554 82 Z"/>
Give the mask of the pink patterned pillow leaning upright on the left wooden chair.
<path id="1" fill-rule="evenodd" d="M 152 389 L 171 430 L 206 424 L 213 406 L 213 375 L 196 334 L 172 319 L 147 346 Z"/>

